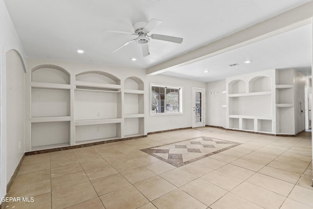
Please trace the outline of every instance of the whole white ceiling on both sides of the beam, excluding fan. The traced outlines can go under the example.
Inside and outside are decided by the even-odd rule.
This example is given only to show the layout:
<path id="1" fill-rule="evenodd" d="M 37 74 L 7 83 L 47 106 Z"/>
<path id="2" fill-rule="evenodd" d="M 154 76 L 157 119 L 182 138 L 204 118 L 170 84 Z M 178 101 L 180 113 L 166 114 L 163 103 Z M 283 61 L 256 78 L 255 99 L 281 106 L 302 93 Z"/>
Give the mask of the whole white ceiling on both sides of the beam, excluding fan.
<path id="1" fill-rule="evenodd" d="M 308 1 L 4 0 L 28 57 L 142 69 Z M 133 32 L 134 23 L 148 22 L 152 18 L 163 22 L 152 33 L 182 37 L 182 44 L 151 40 L 150 55 L 147 57 L 142 57 L 141 48 L 136 43 L 111 53 L 134 36 L 108 33 L 104 29 Z M 312 31 L 305 26 L 164 74 L 208 82 L 222 79 L 229 73 L 251 70 L 290 67 L 308 70 L 312 60 L 312 44 L 308 43 L 311 39 Z M 77 48 L 84 49 L 86 53 L 76 53 Z M 131 61 L 133 57 L 137 60 Z M 246 59 L 253 62 L 245 66 L 243 61 Z M 240 65 L 228 67 L 231 63 Z M 203 75 L 205 68 L 210 72 Z"/>

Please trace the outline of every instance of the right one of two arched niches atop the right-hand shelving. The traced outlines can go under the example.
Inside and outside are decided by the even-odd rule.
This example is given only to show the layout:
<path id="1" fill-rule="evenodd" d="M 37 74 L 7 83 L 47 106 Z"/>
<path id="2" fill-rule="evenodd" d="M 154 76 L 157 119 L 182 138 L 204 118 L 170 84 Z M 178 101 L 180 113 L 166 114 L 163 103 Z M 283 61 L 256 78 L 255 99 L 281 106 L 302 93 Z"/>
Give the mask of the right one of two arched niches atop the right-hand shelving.
<path id="1" fill-rule="evenodd" d="M 249 81 L 249 92 L 272 91 L 272 79 L 268 76 L 257 76 Z"/>

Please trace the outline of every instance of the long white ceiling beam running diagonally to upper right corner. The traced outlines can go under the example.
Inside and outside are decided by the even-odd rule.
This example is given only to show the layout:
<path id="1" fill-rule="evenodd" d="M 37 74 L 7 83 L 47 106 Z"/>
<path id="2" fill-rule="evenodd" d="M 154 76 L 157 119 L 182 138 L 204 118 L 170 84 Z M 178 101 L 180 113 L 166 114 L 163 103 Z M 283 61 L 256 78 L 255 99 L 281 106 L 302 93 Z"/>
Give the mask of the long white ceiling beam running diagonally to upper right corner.
<path id="1" fill-rule="evenodd" d="M 147 75 L 155 75 L 188 65 L 293 30 L 312 23 L 312 17 L 313 0 L 206 46 L 148 68 Z"/>

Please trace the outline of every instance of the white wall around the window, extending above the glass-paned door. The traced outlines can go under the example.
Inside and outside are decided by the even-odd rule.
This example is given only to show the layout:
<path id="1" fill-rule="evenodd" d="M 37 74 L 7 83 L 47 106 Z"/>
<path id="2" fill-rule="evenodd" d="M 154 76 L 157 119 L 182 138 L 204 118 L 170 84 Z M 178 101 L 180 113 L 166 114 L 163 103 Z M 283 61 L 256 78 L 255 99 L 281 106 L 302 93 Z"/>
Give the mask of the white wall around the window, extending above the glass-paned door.
<path id="1" fill-rule="evenodd" d="M 150 83 L 182 87 L 182 114 L 172 116 L 150 116 Z M 164 75 L 149 75 L 146 79 L 147 132 L 163 131 L 176 128 L 192 127 L 192 87 L 205 89 L 206 84 L 200 81 L 175 78 Z"/>

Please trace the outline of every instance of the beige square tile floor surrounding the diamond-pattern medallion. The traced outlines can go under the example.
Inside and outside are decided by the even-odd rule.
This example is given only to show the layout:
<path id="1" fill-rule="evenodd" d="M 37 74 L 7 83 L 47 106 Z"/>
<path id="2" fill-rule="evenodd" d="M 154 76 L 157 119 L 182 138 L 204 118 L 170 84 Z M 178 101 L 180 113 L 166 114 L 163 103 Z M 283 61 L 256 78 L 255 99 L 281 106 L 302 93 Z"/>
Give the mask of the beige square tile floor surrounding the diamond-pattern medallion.
<path id="1" fill-rule="evenodd" d="M 241 143 L 176 167 L 141 149 L 207 137 Z M 26 156 L 3 209 L 313 209 L 311 133 L 197 128 Z"/>

